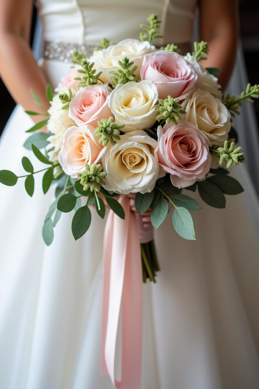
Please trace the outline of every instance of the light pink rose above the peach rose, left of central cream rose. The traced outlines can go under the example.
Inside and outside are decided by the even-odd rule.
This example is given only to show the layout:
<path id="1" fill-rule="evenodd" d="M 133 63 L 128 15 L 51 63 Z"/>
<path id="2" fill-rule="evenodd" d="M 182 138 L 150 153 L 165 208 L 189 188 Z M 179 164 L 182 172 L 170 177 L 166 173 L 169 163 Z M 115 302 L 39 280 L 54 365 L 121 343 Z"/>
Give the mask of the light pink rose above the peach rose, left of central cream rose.
<path id="1" fill-rule="evenodd" d="M 96 128 L 98 120 L 113 116 L 108 106 L 110 93 L 108 84 L 89 85 L 80 89 L 70 102 L 68 116 L 78 126 L 89 124 Z"/>

